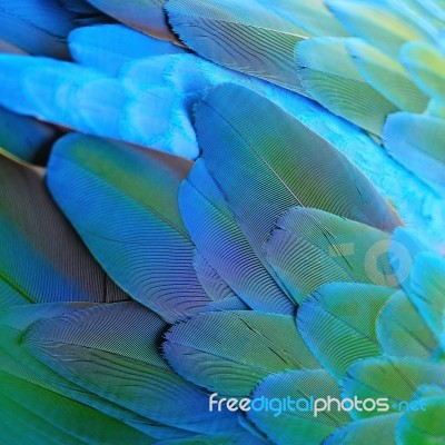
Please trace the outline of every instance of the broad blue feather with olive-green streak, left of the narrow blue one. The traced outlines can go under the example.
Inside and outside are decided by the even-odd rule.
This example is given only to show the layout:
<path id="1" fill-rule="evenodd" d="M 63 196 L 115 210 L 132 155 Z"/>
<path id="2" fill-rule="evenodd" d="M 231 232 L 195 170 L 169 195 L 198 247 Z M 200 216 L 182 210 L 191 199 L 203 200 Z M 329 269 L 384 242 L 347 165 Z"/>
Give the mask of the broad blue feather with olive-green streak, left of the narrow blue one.
<path id="1" fill-rule="evenodd" d="M 189 168 L 184 159 L 81 135 L 60 139 L 48 167 L 52 196 L 102 267 L 170 322 L 210 301 L 177 208 Z"/>

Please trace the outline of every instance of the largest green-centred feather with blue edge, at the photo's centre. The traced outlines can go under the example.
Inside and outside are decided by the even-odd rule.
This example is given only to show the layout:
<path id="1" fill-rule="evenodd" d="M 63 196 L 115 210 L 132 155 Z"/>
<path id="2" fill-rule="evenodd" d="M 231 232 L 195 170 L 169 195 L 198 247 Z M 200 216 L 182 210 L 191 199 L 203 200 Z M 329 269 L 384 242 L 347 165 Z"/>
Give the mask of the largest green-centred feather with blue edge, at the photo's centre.
<path id="1" fill-rule="evenodd" d="M 296 205 L 383 229 L 399 224 L 343 155 L 251 90 L 219 86 L 195 113 L 206 166 L 259 257 L 277 217 Z"/>

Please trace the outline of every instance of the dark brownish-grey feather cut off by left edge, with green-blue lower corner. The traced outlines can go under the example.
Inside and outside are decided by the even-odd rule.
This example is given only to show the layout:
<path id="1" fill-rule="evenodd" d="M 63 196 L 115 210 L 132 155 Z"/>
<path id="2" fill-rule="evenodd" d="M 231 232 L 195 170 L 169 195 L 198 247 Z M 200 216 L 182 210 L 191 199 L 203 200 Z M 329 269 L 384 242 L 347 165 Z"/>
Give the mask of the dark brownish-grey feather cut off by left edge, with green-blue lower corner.
<path id="1" fill-rule="evenodd" d="M 1 306 L 127 299 L 52 202 L 41 171 L 0 155 Z"/>

